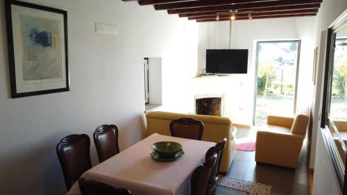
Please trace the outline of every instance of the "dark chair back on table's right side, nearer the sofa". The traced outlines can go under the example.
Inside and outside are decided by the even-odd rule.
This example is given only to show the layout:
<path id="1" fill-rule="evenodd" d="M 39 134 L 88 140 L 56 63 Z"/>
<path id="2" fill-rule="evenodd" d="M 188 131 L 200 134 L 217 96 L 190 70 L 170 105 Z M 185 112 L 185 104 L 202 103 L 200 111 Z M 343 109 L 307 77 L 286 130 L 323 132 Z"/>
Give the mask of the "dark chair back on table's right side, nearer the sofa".
<path id="1" fill-rule="evenodd" d="M 227 139 L 224 137 L 221 140 L 221 142 L 216 144 L 216 146 L 211 147 L 206 152 L 205 161 L 210 159 L 212 157 L 212 155 L 214 155 L 214 153 L 217 153 L 217 161 L 216 161 L 216 164 L 214 164 L 214 166 L 212 168 L 209 185 L 213 185 L 214 182 L 217 180 L 219 167 L 221 165 L 221 157 L 223 155 L 223 149 L 226 147 L 226 140 Z"/>

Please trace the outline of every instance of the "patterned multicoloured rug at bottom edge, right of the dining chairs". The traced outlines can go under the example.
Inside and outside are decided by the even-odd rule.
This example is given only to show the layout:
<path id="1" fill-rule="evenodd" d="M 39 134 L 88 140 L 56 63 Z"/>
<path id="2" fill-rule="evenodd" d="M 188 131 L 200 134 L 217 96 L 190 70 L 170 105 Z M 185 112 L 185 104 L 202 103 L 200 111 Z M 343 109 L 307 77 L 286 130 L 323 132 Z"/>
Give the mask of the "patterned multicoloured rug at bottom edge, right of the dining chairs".
<path id="1" fill-rule="evenodd" d="M 217 183 L 217 195 L 269 195 L 271 186 L 221 176 Z"/>

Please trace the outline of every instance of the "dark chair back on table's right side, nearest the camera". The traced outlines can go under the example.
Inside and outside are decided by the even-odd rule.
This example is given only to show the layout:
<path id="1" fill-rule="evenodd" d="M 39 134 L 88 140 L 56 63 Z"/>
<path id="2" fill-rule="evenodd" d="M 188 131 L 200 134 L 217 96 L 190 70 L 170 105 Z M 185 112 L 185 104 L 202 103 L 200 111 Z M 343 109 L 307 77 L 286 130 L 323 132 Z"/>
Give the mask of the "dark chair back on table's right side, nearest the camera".
<path id="1" fill-rule="evenodd" d="M 193 171 L 191 179 L 191 195 L 205 195 L 208 189 L 208 180 L 213 165 L 216 163 L 217 153 L 214 153 L 212 157 L 205 161 L 205 163 Z"/>

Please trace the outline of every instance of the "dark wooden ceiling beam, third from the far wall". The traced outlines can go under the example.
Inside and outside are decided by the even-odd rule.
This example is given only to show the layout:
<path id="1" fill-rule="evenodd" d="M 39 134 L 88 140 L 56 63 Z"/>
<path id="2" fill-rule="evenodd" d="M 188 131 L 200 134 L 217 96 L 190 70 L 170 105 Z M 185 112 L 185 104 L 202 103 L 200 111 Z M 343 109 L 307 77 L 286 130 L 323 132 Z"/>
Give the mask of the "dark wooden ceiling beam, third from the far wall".
<path id="1" fill-rule="evenodd" d="M 289 10 L 306 10 L 311 8 L 320 8 L 321 3 L 308 4 L 308 5 L 298 5 L 298 6 L 278 6 L 271 8 L 251 8 L 242 9 L 242 12 L 273 12 L 273 11 L 289 11 Z M 179 14 L 179 17 L 196 17 L 196 16 L 207 16 L 216 15 L 217 12 L 228 12 L 229 10 L 213 11 L 213 12 L 196 12 L 196 13 L 186 13 Z"/>

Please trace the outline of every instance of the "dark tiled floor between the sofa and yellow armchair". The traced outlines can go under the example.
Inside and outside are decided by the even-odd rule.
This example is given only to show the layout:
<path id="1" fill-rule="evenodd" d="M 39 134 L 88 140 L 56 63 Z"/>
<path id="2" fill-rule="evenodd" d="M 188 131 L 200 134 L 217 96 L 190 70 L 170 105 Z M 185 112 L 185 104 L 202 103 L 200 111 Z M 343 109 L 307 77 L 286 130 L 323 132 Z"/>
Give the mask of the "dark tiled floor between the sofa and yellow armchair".
<path id="1" fill-rule="evenodd" d="M 238 128 L 237 141 L 255 139 L 255 129 Z M 236 151 L 227 176 L 271 185 L 271 194 L 310 194 L 306 167 L 306 146 L 301 151 L 298 167 L 289 169 L 256 163 L 255 152 Z"/>

